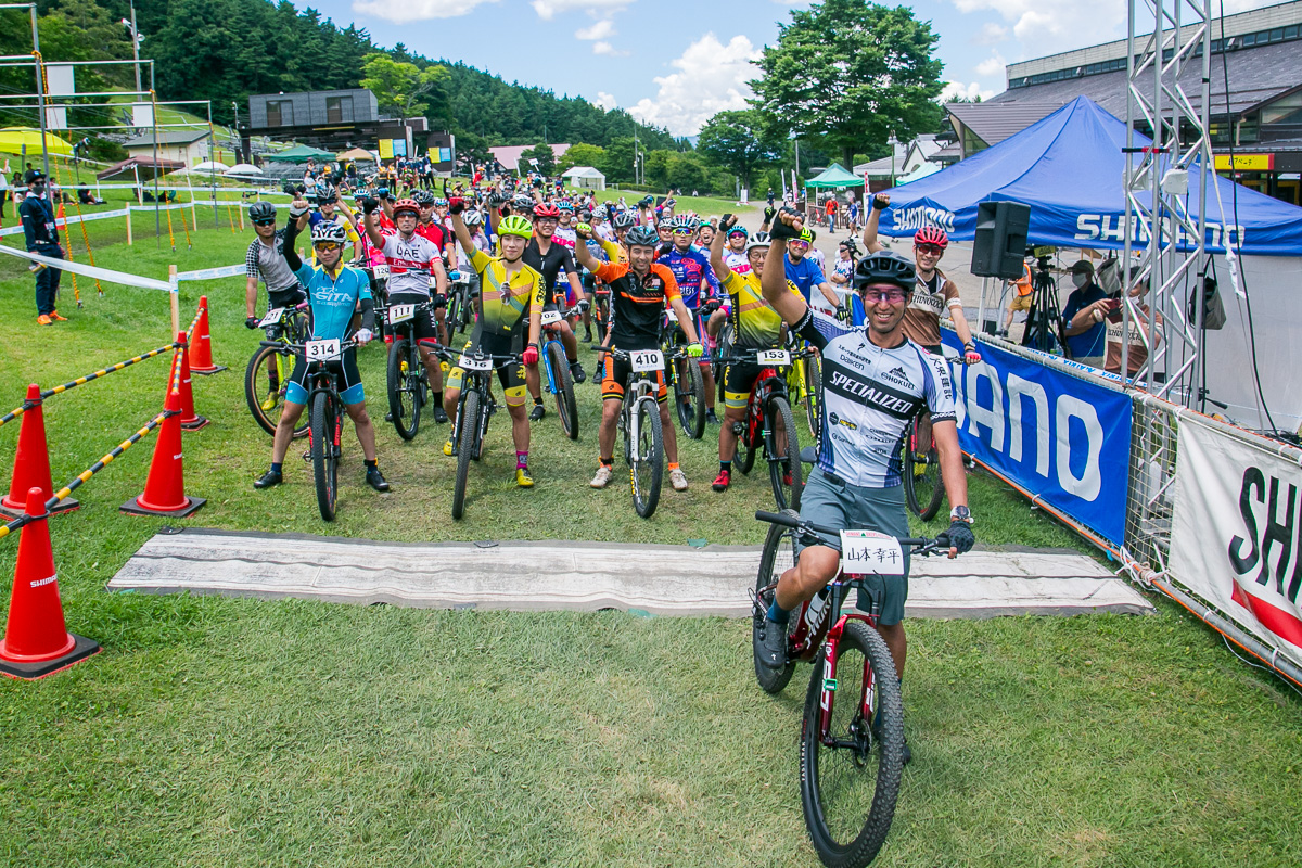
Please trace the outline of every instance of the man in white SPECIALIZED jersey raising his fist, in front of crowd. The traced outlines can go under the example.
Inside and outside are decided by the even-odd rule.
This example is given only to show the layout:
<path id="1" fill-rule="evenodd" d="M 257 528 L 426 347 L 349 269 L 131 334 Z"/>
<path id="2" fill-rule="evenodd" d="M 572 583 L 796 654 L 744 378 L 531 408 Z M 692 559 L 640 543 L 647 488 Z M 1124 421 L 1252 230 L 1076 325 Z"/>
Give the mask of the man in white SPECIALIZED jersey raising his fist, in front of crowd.
<path id="1" fill-rule="evenodd" d="M 799 230 L 799 215 L 780 212 L 773 221 L 772 252 L 781 256 L 786 239 L 797 237 Z M 805 299 L 788 292 L 785 275 L 773 269 L 766 277 L 762 278 L 764 299 L 823 354 L 823 431 L 828 433 L 801 496 L 801 517 L 827 527 L 907 536 L 898 444 L 909 420 L 926 407 L 932 415 L 945 491 L 954 504 L 949 556 L 971 549 L 975 537 L 969 527 L 967 479 L 948 368 L 943 359 L 906 338 L 902 329 L 917 282 L 913 263 L 889 252 L 859 262 L 854 288 L 868 315 L 862 329 L 815 319 Z M 775 669 L 786 664 L 785 625 L 790 610 L 818 593 L 840 570 L 838 540 L 820 535 L 797 544 L 801 548 L 797 565 L 779 579 L 764 629 L 756 636 L 762 645 L 759 660 Z M 878 631 L 891 648 L 901 679 L 907 648 L 901 623 L 909 593 L 907 566 L 906 557 L 904 576 L 876 576 L 870 583 L 883 595 Z M 862 596 L 859 605 L 865 605 Z"/>

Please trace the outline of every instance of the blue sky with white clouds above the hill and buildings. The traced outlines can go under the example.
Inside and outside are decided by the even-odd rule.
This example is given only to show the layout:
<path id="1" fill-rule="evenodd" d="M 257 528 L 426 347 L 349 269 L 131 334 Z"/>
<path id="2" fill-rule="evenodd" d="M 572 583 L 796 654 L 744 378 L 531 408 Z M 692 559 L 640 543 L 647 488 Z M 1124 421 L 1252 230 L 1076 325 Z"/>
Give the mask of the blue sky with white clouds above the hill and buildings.
<path id="1" fill-rule="evenodd" d="M 790 21 L 786 0 L 294 0 L 383 46 L 462 60 L 506 81 L 582 95 L 668 128 L 697 133 L 742 108 L 747 61 Z M 953 92 L 1004 90 L 1004 64 L 1125 35 L 1125 0 L 921 0 L 914 17 L 940 35 Z M 1225 0 L 1226 13 L 1269 5 Z M 1213 7 L 1215 8 L 1215 7 Z"/>

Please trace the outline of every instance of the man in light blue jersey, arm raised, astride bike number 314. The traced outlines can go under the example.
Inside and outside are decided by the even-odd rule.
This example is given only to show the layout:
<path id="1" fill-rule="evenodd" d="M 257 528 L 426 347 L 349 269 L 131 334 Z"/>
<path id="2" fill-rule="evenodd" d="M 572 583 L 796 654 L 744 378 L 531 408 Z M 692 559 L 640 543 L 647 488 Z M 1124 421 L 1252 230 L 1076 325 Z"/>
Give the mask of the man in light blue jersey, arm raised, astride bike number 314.
<path id="1" fill-rule="evenodd" d="M 307 290 L 307 299 L 311 303 L 312 340 L 342 341 L 348 336 L 353 310 L 361 305 L 362 328 L 357 329 L 354 337 L 358 344 L 365 345 L 374 336 L 372 329 L 375 328 L 375 303 L 371 301 L 370 280 L 365 272 L 344 264 L 344 242 L 348 236 L 344 226 L 336 223 L 323 221 L 312 229 L 316 267 L 302 262 L 294 252 L 294 239 L 298 237 L 296 219 L 303 213 L 307 213 L 307 202 L 294 199 L 289 211 L 290 220 L 285 226 L 284 256 L 289 269 Z M 271 488 L 283 481 L 281 466 L 285 461 L 285 452 L 288 452 L 289 441 L 294 436 L 294 426 L 298 424 L 298 418 L 303 413 L 303 405 L 307 403 L 307 389 L 303 388 L 307 367 L 307 359 L 299 353 L 294 359 L 294 372 L 289 376 L 289 387 L 285 390 L 285 409 L 276 424 L 276 436 L 271 446 L 271 470 L 254 483 L 255 488 Z M 375 427 L 371 426 L 371 418 L 366 414 L 366 389 L 362 388 L 362 375 L 357 370 L 355 347 L 344 350 L 341 367 L 339 397 L 357 429 L 357 440 L 362 444 L 362 454 L 366 458 L 366 484 L 375 491 L 387 492 L 389 484 L 384 481 L 375 457 Z"/>

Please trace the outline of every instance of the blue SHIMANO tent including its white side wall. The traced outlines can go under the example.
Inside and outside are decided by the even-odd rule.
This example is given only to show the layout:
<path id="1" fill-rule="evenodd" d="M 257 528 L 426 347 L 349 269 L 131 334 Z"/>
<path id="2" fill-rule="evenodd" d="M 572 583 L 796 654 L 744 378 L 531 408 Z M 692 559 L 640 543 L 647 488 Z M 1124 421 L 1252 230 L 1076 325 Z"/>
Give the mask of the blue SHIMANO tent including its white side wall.
<path id="1" fill-rule="evenodd" d="M 1134 147 L 1151 139 L 1135 134 Z M 891 191 L 891 207 L 880 217 L 883 236 L 913 236 L 923 225 L 937 225 L 956 241 L 975 237 L 980 202 L 1014 200 L 1031 207 L 1029 241 L 1056 247 L 1120 250 L 1124 246 L 1124 170 L 1126 126 L 1092 100 L 1078 96 L 1021 133 L 930 177 Z M 1138 160 L 1139 155 L 1130 156 Z M 1253 333 L 1264 347 L 1258 357 L 1262 393 L 1276 424 L 1294 428 L 1302 422 L 1302 390 L 1294 371 L 1302 370 L 1302 341 L 1295 338 L 1302 318 L 1293 301 L 1302 284 L 1302 208 L 1211 176 L 1207 191 L 1207 249 L 1220 278 L 1225 328 L 1207 333 L 1207 388 L 1230 405 L 1230 415 L 1254 426 L 1260 413 L 1249 349 L 1246 306 L 1232 289 L 1225 262 L 1225 225 L 1236 233 L 1242 286 L 1251 293 Z M 1198 210 L 1198 173 L 1189 176 L 1184 198 Z M 1147 200 L 1147 193 L 1139 194 Z M 1237 212 L 1237 220 L 1234 215 Z M 1181 249 L 1193 249 L 1181 239 Z M 1148 243 L 1147 226 L 1135 225 L 1134 249 Z"/>

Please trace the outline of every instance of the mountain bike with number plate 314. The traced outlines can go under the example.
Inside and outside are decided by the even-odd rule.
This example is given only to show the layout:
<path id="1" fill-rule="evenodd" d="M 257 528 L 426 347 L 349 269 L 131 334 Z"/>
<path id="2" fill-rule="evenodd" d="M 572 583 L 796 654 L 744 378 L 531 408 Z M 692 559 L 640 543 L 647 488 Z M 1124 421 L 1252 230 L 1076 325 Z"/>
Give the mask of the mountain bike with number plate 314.
<path id="1" fill-rule="evenodd" d="M 262 341 L 263 346 L 286 346 L 290 353 L 301 353 L 307 362 L 307 433 L 312 476 L 316 483 L 316 508 L 327 522 L 335 521 L 335 502 L 339 500 L 339 459 L 342 454 L 344 401 L 339 397 L 339 379 L 342 375 L 344 351 L 358 346 L 345 338 L 280 344 Z"/>

